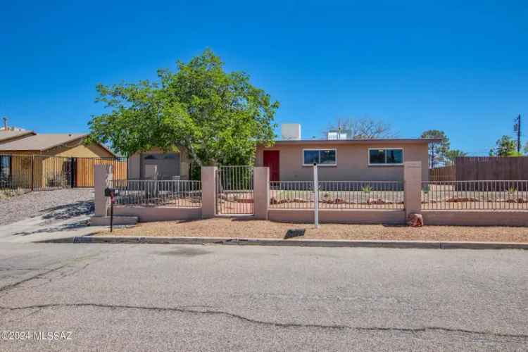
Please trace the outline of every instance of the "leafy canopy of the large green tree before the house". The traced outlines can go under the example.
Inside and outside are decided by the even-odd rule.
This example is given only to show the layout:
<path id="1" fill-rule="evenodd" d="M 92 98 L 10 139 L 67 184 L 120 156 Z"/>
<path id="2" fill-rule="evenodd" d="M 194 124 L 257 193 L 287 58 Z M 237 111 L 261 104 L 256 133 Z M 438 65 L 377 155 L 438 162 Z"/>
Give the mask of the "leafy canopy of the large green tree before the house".
<path id="1" fill-rule="evenodd" d="M 110 110 L 89 122 L 90 137 L 130 156 L 158 147 L 184 148 L 198 165 L 253 161 L 257 143 L 272 144 L 279 107 L 254 87 L 249 75 L 227 73 L 206 49 L 177 70 L 158 70 L 158 80 L 99 84 L 97 102 Z"/>

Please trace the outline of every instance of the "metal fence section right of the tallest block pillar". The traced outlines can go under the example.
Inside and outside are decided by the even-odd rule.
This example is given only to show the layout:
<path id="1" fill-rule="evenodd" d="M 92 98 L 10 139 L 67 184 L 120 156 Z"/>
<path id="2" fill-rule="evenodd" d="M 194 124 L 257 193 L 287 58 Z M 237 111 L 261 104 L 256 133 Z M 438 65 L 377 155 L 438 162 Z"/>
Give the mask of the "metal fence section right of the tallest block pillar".
<path id="1" fill-rule="evenodd" d="M 528 210 L 528 181 L 422 182 L 422 209 Z"/>

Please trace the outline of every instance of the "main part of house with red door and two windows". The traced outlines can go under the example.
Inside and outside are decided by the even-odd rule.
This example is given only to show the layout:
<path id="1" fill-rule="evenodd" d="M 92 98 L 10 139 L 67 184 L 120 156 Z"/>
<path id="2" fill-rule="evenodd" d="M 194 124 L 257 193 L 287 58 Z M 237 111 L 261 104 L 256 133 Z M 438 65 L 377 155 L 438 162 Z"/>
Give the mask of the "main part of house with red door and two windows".
<path id="1" fill-rule="evenodd" d="M 280 140 L 258 146 L 256 166 L 270 168 L 271 181 L 403 181 L 403 163 L 421 161 L 427 181 L 428 146 L 436 139 Z"/>

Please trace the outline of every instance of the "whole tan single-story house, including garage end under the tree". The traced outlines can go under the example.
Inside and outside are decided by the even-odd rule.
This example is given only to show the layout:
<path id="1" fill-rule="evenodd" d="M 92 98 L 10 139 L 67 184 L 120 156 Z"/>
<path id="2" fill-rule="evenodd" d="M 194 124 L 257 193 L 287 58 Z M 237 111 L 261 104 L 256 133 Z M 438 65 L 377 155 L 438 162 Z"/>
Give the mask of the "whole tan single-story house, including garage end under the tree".
<path id="1" fill-rule="evenodd" d="M 256 166 L 270 168 L 271 181 L 309 181 L 313 163 L 318 163 L 320 180 L 403 181 L 403 162 L 427 165 L 428 146 L 436 139 L 347 139 L 278 140 L 269 147 L 257 146 Z M 156 165 L 159 180 L 189 180 L 190 158 L 182 149 L 163 152 L 153 149 L 128 159 L 129 180 L 148 180 Z M 422 168 L 422 180 L 429 172 Z"/>

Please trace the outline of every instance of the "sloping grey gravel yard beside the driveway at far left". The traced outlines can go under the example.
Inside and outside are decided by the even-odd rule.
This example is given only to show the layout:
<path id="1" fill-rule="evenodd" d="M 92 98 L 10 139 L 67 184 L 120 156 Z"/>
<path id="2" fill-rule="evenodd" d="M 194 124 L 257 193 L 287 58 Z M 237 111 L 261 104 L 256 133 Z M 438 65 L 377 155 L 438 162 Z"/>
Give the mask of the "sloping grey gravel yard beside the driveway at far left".
<path id="1" fill-rule="evenodd" d="M 0 225 L 43 215 L 67 218 L 94 210 L 94 189 L 34 191 L 0 199 Z"/>

